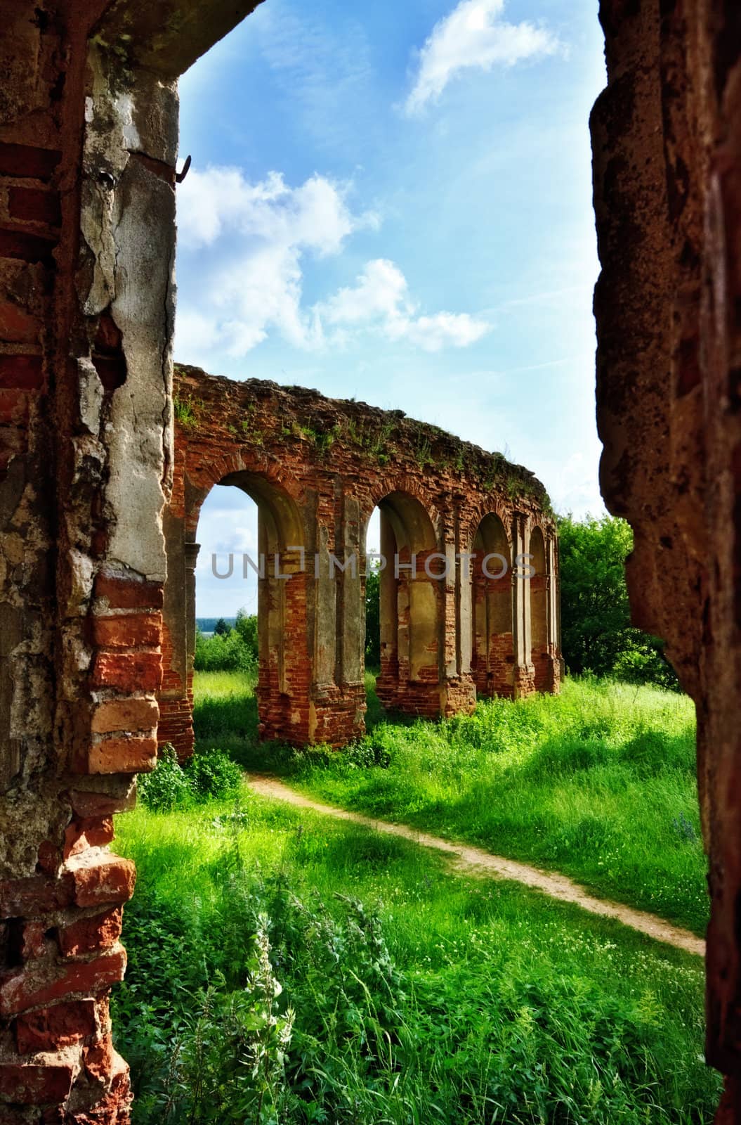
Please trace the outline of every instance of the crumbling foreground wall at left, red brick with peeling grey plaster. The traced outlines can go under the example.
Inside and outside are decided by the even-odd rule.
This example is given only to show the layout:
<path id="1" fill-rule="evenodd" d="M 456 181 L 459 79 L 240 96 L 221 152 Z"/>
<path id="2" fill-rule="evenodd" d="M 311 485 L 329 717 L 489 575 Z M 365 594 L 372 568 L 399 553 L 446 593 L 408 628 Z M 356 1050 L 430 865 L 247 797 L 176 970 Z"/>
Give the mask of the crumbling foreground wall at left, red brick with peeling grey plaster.
<path id="1" fill-rule="evenodd" d="M 129 1116 L 110 844 L 156 760 L 178 120 L 109 7 L 0 2 L 3 1125 Z M 142 6 L 114 7 L 136 44 Z"/>

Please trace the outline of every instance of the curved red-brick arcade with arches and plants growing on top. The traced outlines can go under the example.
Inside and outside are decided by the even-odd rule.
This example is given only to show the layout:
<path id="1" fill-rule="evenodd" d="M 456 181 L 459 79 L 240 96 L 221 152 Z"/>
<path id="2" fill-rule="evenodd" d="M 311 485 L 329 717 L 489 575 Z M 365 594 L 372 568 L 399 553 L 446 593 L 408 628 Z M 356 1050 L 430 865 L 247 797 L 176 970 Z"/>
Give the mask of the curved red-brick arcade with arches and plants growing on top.
<path id="1" fill-rule="evenodd" d="M 400 411 L 302 387 L 178 364 L 174 398 L 161 742 L 192 752 L 196 536 L 216 484 L 257 504 L 263 738 L 342 746 L 364 731 L 365 529 L 377 505 L 381 701 L 435 717 L 471 710 L 477 693 L 558 691 L 555 525 L 532 472 Z M 241 576 L 243 559 L 233 561 Z"/>

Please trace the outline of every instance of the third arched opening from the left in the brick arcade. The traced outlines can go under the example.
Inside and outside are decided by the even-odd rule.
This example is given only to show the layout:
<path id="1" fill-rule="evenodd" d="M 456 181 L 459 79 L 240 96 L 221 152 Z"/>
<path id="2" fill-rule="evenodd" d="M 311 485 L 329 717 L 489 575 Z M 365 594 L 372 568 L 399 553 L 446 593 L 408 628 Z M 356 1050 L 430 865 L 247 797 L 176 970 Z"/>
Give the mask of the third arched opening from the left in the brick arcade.
<path id="1" fill-rule="evenodd" d="M 512 543 L 494 512 L 479 523 L 471 550 L 471 675 L 478 695 L 512 696 Z"/>

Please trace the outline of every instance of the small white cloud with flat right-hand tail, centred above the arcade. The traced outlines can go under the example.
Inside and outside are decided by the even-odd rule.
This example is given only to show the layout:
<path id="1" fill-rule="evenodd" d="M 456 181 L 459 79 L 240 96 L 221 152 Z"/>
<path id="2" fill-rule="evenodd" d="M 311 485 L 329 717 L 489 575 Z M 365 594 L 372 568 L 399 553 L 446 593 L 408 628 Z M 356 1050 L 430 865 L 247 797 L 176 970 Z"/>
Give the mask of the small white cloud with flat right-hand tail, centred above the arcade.
<path id="1" fill-rule="evenodd" d="M 368 262 L 355 285 L 340 289 L 317 314 L 328 325 L 376 328 L 389 340 L 407 340 L 424 351 L 466 348 L 480 340 L 490 325 L 468 313 L 416 315 L 401 270 L 386 258 Z"/>

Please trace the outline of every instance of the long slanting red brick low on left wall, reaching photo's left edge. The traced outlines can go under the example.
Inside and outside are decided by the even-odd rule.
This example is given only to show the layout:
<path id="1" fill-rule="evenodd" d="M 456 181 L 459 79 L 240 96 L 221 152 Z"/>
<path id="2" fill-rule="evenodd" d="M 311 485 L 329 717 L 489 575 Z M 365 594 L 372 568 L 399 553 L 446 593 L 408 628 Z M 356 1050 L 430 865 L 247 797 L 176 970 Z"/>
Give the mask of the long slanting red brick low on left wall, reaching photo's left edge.
<path id="1" fill-rule="evenodd" d="M 125 971 L 126 951 L 121 946 L 94 961 L 64 965 L 30 961 L 22 969 L 0 973 L 0 1016 L 15 1016 L 75 992 L 102 992 L 123 980 Z"/>

